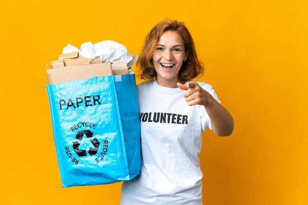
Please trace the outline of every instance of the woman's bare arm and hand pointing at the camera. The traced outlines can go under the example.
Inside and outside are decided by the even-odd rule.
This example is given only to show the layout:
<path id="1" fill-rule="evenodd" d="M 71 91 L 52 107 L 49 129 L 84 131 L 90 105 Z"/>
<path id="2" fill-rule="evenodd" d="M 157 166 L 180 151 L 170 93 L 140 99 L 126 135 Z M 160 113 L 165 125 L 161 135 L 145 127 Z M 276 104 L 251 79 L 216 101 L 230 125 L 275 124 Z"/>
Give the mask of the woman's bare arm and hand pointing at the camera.
<path id="1" fill-rule="evenodd" d="M 198 104 L 205 107 L 216 135 L 228 136 L 232 134 L 234 127 L 233 117 L 208 91 L 201 88 L 195 81 L 191 81 L 187 85 L 178 83 L 177 86 L 186 90 L 183 96 L 189 106 Z"/>

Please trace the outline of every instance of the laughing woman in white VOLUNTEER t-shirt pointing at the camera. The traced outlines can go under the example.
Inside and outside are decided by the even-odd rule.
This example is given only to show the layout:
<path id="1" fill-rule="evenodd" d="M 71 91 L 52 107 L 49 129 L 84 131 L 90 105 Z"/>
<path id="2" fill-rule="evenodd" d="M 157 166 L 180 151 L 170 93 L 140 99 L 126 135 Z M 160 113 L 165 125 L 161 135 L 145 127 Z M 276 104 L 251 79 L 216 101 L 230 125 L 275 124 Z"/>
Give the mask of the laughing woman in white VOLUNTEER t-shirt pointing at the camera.
<path id="1" fill-rule="evenodd" d="M 206 127 L 233 131 L 233 118 L 202 75 L 184 23 L 163 21 L 148 33 L 137 67 L 141 122 L 141 175 L 123 182 L 121 205 L 202 205 L 199 154 Z"/>

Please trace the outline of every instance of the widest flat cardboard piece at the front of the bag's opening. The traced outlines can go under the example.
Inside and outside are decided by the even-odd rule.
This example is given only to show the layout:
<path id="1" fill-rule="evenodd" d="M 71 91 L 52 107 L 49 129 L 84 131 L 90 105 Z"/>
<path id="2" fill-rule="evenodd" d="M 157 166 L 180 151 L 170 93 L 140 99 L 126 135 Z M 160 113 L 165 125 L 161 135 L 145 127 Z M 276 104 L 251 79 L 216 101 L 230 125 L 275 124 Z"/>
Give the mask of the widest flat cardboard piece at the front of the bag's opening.
<path id="1" fill-rule="evenodd" d="M 63 83 L 113 74 L 110 62 L 52 68 L 46 69 L 46 72 L 48 84 Z"/>

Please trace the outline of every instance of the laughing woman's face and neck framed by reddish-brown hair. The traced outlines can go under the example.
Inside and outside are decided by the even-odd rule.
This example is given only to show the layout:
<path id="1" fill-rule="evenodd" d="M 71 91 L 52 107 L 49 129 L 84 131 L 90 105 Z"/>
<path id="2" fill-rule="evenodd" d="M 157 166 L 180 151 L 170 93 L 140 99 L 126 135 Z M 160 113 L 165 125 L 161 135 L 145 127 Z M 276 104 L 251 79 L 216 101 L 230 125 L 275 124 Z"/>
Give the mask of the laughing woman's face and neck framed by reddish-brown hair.
<path id="1" fill-rule="evenodd" d="M 177 88 L 179 71 L 187 56 L 188 52 L 185 53 L 184 42 L 180 34 L 172 30 L 164 32 L 160 36 L 153 54 L 157 84 L 168 88 Z"/>

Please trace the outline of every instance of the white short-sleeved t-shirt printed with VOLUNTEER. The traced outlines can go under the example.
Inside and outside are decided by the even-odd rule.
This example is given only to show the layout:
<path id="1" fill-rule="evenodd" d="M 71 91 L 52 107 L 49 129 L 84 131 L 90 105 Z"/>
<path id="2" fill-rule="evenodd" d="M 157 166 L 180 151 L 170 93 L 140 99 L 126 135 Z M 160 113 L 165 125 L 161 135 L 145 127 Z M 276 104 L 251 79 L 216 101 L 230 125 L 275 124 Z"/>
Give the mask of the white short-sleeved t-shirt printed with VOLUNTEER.
<path id="1" fill-rule="evenodd" d="M 211 85 L 198 82 L 219 102 Z M 199 154 L 211 128 L 204 106 L 188 106 L 180 88 L 156 81 L 137 86 L 141 122 L 141 175 L 122 186 L 121 205 L 202 205 Z"/>

